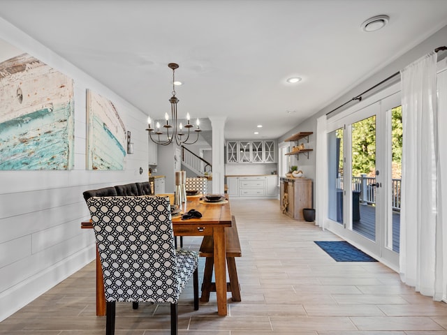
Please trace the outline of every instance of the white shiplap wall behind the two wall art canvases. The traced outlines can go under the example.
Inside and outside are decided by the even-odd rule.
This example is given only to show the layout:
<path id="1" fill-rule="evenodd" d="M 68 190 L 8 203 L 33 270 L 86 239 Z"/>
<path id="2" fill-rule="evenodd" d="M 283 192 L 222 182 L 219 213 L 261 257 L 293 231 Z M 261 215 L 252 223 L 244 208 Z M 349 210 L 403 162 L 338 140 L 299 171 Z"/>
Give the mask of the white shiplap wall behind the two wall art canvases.
<path id="1" fill-rule="evenodd" d="M 70 76 L 75 84 L 75 167 L 0 171 L 0 321 L 95 258 L 82 192 L 147 180 L 147 116 L 103 84 L 0 18 L 0 38 Z M 67 41 L 69 42 L 69 41 Z M 1 50 L 0 50 L 1 54 Z M 115 103 L 134 154 L 122 171 L 86 170 L 86 89 Z M 140 168 L 143 173 L 140 174 Z"/>

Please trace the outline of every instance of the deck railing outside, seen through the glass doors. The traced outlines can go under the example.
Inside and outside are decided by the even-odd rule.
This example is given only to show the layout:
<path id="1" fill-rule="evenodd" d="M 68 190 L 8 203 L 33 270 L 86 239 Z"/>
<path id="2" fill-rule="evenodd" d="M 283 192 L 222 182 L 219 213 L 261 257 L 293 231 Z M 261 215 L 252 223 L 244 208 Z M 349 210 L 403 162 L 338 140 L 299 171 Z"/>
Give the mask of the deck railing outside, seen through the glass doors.
<path id="1" fill-rule="evenodd" d="M 391 196 L 393 210 L 400 211 L 401 179 L 391 179 L 391 187 L 393 189 Z M 337 188 L 343 188 L 343 177 L 337 179 Z M 352 191 L 360 192 L 361 203 L 375 204 L 376 178 L 366 177 L 366 174 L 362 174 L 360 177 L 353 177 Z"/>

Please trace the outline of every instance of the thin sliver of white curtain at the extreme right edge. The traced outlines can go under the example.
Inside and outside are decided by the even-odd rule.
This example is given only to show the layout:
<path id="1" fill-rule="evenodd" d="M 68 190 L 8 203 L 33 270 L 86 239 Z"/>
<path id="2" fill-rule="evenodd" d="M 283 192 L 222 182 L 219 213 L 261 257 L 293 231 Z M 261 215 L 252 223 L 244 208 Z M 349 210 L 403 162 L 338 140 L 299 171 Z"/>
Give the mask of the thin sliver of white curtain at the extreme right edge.
<path id="1" fill-rule="evenodd" d="M 437 76 L 438 87 L 438 213 L 437 213 L 437 262 L 435 269 L 434 300 L 447 302 L 447 58 L 439 62 L 442 72 Z M 444 196 L 443 196 L 444 195 Z M 443 211 L 444 209 L 444 211 Z"/>

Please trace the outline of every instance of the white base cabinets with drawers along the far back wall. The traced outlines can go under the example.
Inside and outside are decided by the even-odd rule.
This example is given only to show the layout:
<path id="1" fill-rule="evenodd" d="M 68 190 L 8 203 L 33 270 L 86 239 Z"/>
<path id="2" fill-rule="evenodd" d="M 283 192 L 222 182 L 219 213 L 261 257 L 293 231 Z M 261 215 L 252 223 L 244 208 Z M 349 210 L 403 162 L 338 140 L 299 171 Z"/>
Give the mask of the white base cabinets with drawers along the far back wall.
<path id="1" fill-rule="evenodd" d="M 277 198 L 277 175 L 226 177 L 230 198 Z"/>

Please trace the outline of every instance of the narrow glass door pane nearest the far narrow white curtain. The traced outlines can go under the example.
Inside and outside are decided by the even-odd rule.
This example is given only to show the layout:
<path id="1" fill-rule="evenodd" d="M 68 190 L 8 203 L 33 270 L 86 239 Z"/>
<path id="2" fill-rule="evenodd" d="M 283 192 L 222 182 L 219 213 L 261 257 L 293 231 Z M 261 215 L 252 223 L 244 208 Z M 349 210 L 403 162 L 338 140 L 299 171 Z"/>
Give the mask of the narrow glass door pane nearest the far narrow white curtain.
<path id="1" fill-rule="evenodd" d="M 343 128 L 328 133 L 328 216 L 343 224 Z"/>

